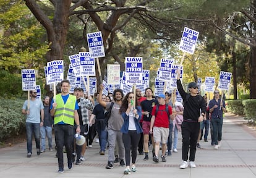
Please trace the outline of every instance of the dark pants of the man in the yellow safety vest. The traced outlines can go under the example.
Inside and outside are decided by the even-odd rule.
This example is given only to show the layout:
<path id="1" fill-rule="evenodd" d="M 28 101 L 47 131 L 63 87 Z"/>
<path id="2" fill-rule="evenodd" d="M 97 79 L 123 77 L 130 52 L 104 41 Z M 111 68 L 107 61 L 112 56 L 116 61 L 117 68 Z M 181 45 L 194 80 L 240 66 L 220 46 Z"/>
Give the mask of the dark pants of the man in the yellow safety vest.
<path id="1" fill-rule="evenodd" d="M 67 162 L 72 160 L 72 150 L 74 144 L 74 126 L 68 124 L 54 125 L 55 140 L 58 154 L 59 169 L 64 168 L 63 163 L 63 146 L 65 145 L 67 151 Z"/>

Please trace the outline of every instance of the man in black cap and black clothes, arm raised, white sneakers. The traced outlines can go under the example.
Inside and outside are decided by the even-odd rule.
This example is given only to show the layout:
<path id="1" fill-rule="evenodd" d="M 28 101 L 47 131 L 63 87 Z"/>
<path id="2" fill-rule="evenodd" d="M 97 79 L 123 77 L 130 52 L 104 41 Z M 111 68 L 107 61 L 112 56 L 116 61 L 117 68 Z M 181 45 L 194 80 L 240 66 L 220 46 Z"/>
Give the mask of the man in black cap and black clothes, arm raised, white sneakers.
<path id="1" fill-rule="evenodd" d="M 182 133 L 182 163 L 179 168 L 185 169 L 197 167 L 194 163 L 197 150 L 197 138 L 200 130 L 200 122 L 205 117 L 206 106 L 201 95 L 198 95 L 198 86 L 195 82 L 189 83 L 189 93 L 182 87 L 180 76 L 181 71 L 177 70 L 177 89 L 184 102 Z M 189 156 L 188 156 L 189 155 Z M 189 159 L 188 159 L 189 158 Z M 189 160 L 189 163 L 187 161 Z"/>

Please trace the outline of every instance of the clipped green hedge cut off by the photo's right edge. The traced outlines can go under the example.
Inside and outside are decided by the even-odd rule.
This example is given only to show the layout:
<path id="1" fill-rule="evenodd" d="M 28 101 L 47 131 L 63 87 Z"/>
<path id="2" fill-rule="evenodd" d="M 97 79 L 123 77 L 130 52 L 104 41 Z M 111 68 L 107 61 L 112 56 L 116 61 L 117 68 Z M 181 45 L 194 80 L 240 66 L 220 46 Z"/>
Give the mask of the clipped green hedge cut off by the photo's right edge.
<path id="1" fill-rule="evenodd" d="M 242 101 L 242 104 L 244 106 L 244 114 L 245 119 L 247 119 L 250 122 L 255 122 L 256 120 L 256 100 L 244 100 Z"/>

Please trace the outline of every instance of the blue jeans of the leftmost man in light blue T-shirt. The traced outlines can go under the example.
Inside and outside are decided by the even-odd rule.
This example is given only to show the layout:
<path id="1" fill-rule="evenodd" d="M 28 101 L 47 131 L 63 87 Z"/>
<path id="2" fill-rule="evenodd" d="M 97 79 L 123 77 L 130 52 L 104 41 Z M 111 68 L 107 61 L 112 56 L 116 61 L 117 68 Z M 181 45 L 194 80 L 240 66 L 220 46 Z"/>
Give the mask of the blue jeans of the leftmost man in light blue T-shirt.
<path id="1" fill-rule="evenodd" d="M 34 135 L 36 149 L 40 149 L 40 123 L 26 122 L 27 130 L 27 151 L 32 153 L 32 137 Z"/>

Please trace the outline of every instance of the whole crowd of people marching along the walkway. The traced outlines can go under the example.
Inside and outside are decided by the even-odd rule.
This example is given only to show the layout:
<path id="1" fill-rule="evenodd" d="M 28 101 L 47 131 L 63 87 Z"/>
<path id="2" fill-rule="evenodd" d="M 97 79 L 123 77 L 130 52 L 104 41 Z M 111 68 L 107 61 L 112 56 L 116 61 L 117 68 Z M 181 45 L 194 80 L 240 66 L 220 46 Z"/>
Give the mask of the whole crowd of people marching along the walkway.
<path id="1" fill-rule="evenodd" d="M 137 171 L 137 153 L 145 155 L 144 161 L 151 158 L 155 163 L 166 162 L 169 155 L 178 152 L 178 135 L 181 133 L 180 168 L 195 168 L 199 140 L 203 138 L 208 142 L 209 130 L 211 145 L 216 150 L 221 147 L 225 102 L 218 90 L 214 91 L 213 100 L 208 102 L 207 95 L 198 95 L 195 82 L 189 83 L 189 92 L 186 92 L 179 75 L 178 71 L 177 89 L 182 103 L 176 101 L 175 91 L 153 96 L 151 88 L 146 88 L 144 94 L 134 88 L 135 91 L 126 95 L 121 89 L 116 89 L 106 96 L 103 85 L 100 85 L 97 95 L 92 97 L 77 87 L 71 95 L 69 80 L 62 80 L 61 92 L 54 100 L 45 96 L 42 102 L 36 99 L 35 90 L 30 91 L 30 101 L 26 100 L 22 107 L 22 114 L 27 116 L 27 157 L 32 156 L 32 135 L 37 155 L 54 150 L 53 129 L 59 173 L 64 172 L 64 152 L 67 154 L 67 167 L 71 169 L 73 163 L 80 165 L 85 161 L 87 148 L 92 147 L 94 139 L 98 139 L 98 153 L 105 155 L 108 150 L 106 169 L 112 169 L 114 163 L 119 162 L 124 166 L 124 174 L 130 174 Z"/>

